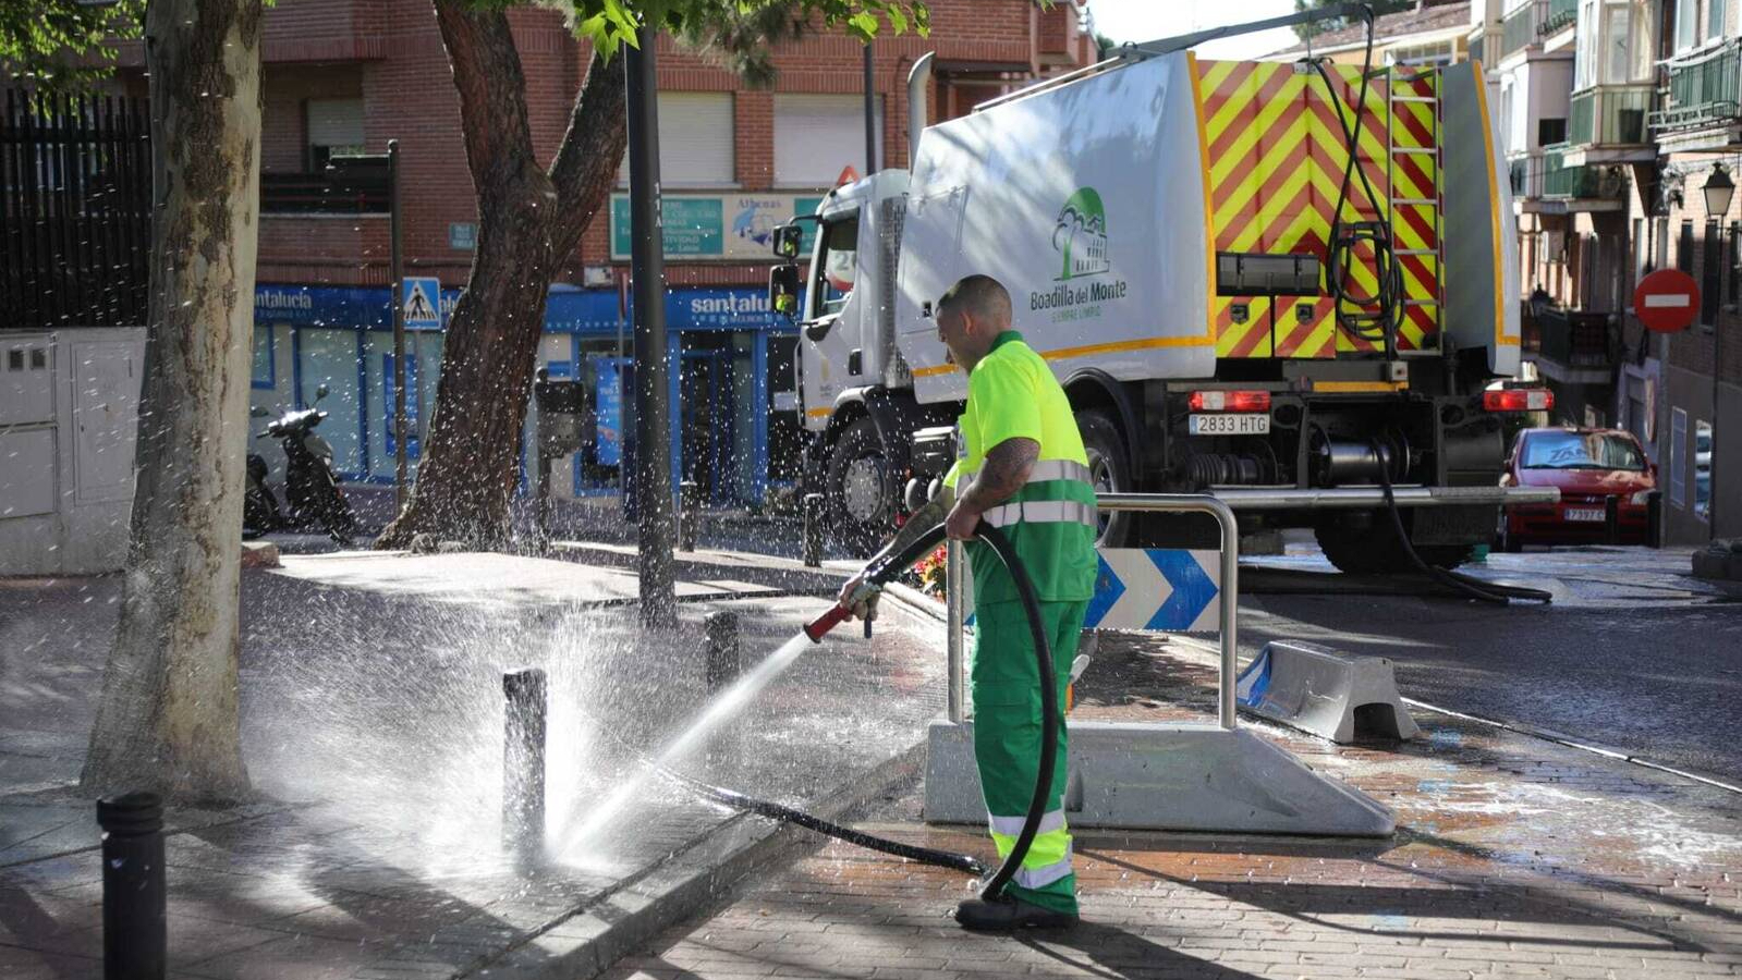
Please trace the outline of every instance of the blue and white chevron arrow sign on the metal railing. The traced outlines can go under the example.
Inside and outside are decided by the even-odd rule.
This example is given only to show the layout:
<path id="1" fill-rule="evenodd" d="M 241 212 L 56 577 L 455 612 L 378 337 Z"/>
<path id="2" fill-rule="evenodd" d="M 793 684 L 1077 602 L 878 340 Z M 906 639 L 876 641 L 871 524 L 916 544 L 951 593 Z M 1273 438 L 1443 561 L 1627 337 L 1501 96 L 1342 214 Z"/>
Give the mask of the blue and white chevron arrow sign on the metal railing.
<path id="1" fill-rule="evenodd" d="M 1216 632 L 1221 552 L 1099 548 L 1084 628 Z"/>

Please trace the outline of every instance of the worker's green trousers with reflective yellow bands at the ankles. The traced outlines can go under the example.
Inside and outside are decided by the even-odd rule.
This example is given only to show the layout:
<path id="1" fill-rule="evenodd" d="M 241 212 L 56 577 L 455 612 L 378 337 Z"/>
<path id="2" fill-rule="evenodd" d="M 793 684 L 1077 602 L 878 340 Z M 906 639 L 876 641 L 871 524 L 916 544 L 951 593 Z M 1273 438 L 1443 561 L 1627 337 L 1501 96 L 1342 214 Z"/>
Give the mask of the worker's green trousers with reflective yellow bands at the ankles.
<path id="1" fill-rule="evenodd" d="M 1009 895 L 1054 912 L 1077 912 L 1077 876 L 1071 874 L 1071 834 L 1064 825 L 1064 689 L 1084 628 L 1087 602 L 1042 602 L 1040 618 L 1052 644 L 1052 672 L 1059 705 L 1057 759 L 1052 795 Z M 974 761 L 979 764 L 991 839 L 1003 860 L 1016 846 L 1035 797 L 1040 769 L 1040 668 L 1028 613 L 1021 602 L 991 602 L 974 609 Z"/>

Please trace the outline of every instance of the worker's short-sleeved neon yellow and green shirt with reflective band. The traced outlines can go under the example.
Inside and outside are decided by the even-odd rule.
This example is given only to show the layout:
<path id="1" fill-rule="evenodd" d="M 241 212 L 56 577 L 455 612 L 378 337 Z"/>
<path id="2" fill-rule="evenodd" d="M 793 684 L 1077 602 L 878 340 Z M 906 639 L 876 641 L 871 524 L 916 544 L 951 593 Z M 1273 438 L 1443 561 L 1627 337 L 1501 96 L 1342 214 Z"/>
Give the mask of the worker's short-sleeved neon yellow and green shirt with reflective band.
<path id="1" fill-rule="evenodd" d="M 1033 439 L 1040 444 L 1040 460 L 1028 482 L 982 519 L 1010 538 L 1038 599 L 1092 599 L 1099 560 L 1089 456 L 1064 388 L 1016 331 L 998 334 L 991 352 L 969 374 L 958 460 L 944 482 L 958 494 L 965 491 L 986 463 L 986 451 L 1007 439 Z M 969 541 L 969 564 L 976 606 L 1017 599 L 1016 581 L 984 543 Z"/>

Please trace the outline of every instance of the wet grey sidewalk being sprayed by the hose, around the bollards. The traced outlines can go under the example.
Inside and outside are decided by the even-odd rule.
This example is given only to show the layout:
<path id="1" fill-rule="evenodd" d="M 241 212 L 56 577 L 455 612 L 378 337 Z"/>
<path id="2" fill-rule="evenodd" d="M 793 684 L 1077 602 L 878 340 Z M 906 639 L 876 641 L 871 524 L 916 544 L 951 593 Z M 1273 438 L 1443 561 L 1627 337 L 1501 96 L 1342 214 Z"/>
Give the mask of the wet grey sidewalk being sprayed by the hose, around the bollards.
<path id="1" fill-rule="evenodd" d="M 244 574 L 244 757 L 258 799 L 172 809 L 176 978 L 591 977 L 622 945 L 789 846 L 657 780 L 587 820 L 707 701 L 700 616 L 735 609 L 742 663 L 824 599 L 683 576 L 643 635 L 613 569 L 512 555 L 289 555 Z M 817 585 L 817 583 L 812 583 Z M 101 975 L 94 806 L 75 785 L 118 576 L 0 581 L 0 978 Z M 756 592 L 763 592 L 758 595 Z M 589 606 L 592 604 L 592 606 Z M 928 620 L 890 614 L 801 656 L 681 768 L 841 815 L 915 769 L 942 701 Z M 502 672 L 550 674 L 549 830 L 526 877 L 500 849 Z"/>

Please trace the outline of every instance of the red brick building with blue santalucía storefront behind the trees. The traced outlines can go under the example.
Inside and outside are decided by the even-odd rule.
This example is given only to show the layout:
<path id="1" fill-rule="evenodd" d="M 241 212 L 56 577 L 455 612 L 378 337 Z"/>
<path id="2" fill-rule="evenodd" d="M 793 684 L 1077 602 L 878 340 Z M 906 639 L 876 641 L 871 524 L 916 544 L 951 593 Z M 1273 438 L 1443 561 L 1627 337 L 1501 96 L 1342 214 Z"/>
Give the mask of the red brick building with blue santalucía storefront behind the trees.
<path id="1" fill-rule="evenodd" d="M 1073 3 L 935 0 L 930 12 L 930 37 L 883 37 L 873 47 L 883 165 L 906 165 L 906 78 L 923 52 L 937 56 L 934 122 L 1094 54 Z M 549 162 L 591 50 L 557 12 L 528 7 L 509 17 L 533 146 Z M 772 89 L 753 91 L 669 38 L 658 49 L 672 425 L 683 475 L 723 505 L 758 505 L 796 456 L 796 423 L 773 411 L 791 388 L 796 332 L 766 308 L 766 232 L 814 207 L 845 167 L 866 171 L 859 42 L 810 35 L 777 45 L 773 63 Z M 122 68 L 124 84 L 143 92 L 138 45 L 124 50 Z M 476 197 L 434 9 L 429 0 L 279 3 L 267 16 L 263 91 L 254 400 L 307 404 L 326 383 L 333 395 L 322 407 L 333 418 L 322 432 L 340 468 L 381 482 L 394 470 L 388 219 L 378 198 L 333 207 L 331 188 L 321 186 L 329 157 L 381 153 L 397 139 L 406 275 L 437 279 L 444 306 L 465 287 Z M 631 428 L 620 397 L 631 332 L 620 305 L 625 190 L 624 179 L 550 292 L 540 360 L 599 397 L 599 439 L 559 465 L 557 493 L 617 493 L 617 437 Z M 413 331 L 408 352 L 418 432 L 434 407 L 441 329 Z"/>

